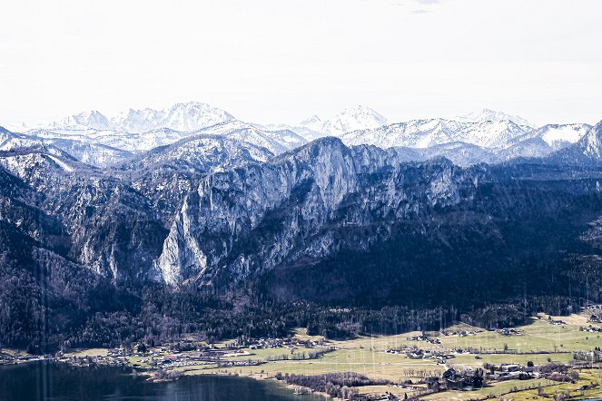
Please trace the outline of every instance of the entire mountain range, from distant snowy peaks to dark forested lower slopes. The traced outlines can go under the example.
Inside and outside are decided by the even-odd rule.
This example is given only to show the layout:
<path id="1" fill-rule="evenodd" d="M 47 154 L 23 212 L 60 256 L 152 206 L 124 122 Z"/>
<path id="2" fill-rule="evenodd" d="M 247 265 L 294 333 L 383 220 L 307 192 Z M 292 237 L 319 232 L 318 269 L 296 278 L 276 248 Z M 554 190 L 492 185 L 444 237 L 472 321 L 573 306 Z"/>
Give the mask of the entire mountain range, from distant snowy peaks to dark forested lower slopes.
<path id="1" fill-rule="evenodd" d="M 0 346 L 102 345 L 96 319 L 176 319 L 170 299 L 602 299 L 602 122 L 360 107 L 311 140 L 202 103 L 120 115 L 0 129 Z"/>

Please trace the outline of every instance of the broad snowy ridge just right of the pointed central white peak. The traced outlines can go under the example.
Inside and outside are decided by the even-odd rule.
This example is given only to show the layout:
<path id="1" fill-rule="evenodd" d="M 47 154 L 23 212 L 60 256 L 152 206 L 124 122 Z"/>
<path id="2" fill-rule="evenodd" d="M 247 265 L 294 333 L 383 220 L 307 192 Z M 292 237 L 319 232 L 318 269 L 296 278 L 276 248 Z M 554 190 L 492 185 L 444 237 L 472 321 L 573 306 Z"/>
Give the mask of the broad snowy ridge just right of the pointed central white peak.
<path id="1" fill-rule="evenodd" d="M 459 120 L 463 121 L 398 122 L 376 129 L 346 132 L 340 138 L 348 145 L 365 143 L 380 148 L 412 148 L 419 155 L 416 160 L 444 156 L 466 166 L 518 157 L 545 157 L 577 142 L 590 128 L 587 124 L 548 124 L 531 128 L 524 125 L 524 119 L 487 109 L 479 115 Z"/>

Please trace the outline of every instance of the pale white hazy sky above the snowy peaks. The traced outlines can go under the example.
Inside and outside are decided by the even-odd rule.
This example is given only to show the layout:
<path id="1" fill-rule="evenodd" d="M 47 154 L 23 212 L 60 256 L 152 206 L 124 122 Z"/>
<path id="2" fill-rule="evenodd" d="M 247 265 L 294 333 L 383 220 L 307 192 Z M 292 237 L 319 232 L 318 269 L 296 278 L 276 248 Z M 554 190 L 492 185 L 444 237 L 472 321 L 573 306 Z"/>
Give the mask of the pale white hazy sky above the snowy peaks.
<path id="1" fill-rule="evenodd" d="M 5 1 L 0 124 L 197 100 L 251 122 L 366 104 L 602 120 L 599 0 Z"/>

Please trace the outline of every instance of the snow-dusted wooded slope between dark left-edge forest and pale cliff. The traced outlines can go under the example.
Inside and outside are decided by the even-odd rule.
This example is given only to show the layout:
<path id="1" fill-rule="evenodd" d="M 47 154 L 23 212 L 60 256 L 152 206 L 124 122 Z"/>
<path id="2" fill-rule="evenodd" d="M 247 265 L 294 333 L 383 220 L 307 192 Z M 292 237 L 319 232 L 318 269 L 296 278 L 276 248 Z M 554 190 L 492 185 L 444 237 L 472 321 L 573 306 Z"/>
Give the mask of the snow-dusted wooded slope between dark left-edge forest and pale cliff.
<path id="1" fill-rule="evenodd" d="M 35 207 L 64 227 L 65 256 L 113 282 L 143 277 L 166 231 L 144 197 L 54 147 L 0 154 L 0 166 L 39 194 Z"/>

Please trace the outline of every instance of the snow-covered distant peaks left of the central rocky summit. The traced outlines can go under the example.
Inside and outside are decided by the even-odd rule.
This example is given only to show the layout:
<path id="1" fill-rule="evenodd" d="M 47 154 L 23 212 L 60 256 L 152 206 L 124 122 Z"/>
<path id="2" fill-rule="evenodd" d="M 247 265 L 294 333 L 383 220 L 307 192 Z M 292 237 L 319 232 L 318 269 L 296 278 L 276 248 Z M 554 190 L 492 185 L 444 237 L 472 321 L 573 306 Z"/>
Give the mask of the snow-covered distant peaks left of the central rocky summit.
<path id="1" fill-rule="evenodd" d="M 69 140 L 88 143 L 103 153 L 96 156 L 86 153 L 86 161 L 95 161 L 96 165 L 107 164 L 104 156 L 109 154 L 106 152 L 109 149 L 126 153 L 146 152 L 198 134 L 219 134 L 251 142 L 265 147 L 272 154 L 289 151 L 306 142 L 290 130 L 263 130 L 235 120 L 232 114 L 222 109 L 198 102 L 176 103 L 163 110 L 130 109 L 112 119 L 100 112 L 82 112 L 28 133 L 44 139 L 44 142 Z M 121 161 L 125 154 L 117 156 L 115 161 Z"/>

